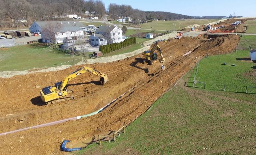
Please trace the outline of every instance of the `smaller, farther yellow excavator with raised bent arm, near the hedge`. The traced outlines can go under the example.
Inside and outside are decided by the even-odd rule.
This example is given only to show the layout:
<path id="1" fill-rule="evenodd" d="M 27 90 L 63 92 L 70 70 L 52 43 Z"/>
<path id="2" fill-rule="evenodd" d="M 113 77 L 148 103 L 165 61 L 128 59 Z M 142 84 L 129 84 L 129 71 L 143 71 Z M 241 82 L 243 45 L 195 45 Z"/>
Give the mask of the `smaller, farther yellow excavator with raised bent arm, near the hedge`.
<path id="1" fill-rule="evenodd" d="M 149 65 L 152 65 L 154 62 L 157 60 L 157 54 L 154 53 L 154 51 L 157 50 L 160 53 L 161 59 L 160 62 L 163 63 L 165 61 L 165 58 L 162 54 L 162 51 L 158 45 L 155 47 L 151 48 L 150 51 L 144 51 L 143 55 L 146 57 L 146 60 L 143 60 L 142 63 L 148 62 Z"/>

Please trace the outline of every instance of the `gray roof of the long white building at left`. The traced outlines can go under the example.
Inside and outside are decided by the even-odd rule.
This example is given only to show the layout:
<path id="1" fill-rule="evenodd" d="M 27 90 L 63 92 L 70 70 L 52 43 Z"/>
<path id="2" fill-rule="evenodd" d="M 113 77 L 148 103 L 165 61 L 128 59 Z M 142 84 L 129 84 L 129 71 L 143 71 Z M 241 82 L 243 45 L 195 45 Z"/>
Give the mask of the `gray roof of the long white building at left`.
<path id="1" fill-rule="evenodd" d="M 77 21 L 46 21 L 46 22 L 35 22 L 41 28 L 47 27 L 49 23 L 53 25 L 60 25 L 61 28 L 58 32 L 70 32 L 70 31 L 83 31 L 83 27 L 85 27 L 82 23 Z M 56 30 L 55 30 L 56 31 Z"/>

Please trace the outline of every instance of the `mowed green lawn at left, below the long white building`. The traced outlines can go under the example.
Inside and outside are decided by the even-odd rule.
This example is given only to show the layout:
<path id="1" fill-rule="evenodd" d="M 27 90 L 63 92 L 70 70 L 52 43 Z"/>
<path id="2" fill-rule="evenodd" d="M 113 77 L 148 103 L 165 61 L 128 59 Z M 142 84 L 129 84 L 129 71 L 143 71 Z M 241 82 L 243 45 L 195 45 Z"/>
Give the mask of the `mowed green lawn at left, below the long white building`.
<path id="1" fill-rule="evenodd" d="M 74 56 L 75 63 L 81 61 L 81 56 Z M 70 62 L 68 62 L 70 61 Z M 67 63 L 65 63 L 67 62 Z M 73 57 L 69 54 L 49 48 L 41 43 L 14 46 L 0 49 L 0 71 L 27 70 L 37 67 L 55 65 L 73 65 Z"/>

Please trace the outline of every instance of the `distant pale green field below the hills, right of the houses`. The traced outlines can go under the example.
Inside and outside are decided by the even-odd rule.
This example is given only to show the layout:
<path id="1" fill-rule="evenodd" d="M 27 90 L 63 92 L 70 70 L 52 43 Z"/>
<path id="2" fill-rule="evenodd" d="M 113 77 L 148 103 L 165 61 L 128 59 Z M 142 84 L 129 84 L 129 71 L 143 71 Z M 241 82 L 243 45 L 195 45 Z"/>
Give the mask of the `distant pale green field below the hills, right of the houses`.
<path id="1" fill-rule="evenodd" d="M 155 30 L 169 30 L 172 31 L 173 29 L 175 30 L 181 30 L 182 28 L 185 28 L 189 25 L 193 24 L 198 24 L 198 25 L 203 25 L 211 22 L 218 21 L 218 19 L 186 19 L 186 20 L 177 20 L 177 21 L 153 21 L 153 22 L 148 22 L 148 23 L 143 23 L 139 24 L 139 26 L 142 29 L 155 29 Z M 151 28 L 152 27 L 152 28 Z"/>

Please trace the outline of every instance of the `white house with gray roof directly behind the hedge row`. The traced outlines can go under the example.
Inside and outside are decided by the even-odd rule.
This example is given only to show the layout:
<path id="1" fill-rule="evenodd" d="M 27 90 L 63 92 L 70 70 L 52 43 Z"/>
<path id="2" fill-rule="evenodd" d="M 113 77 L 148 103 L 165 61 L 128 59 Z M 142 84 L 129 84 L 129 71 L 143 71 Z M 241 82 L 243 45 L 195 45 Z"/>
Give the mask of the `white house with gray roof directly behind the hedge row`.
<path id="1" fill-rule="evenodd" d="M 117 26 L 101 26 L 99 27 L 95 33 L 101 34 L 107 38 L 107 44 L 119 43 L 125 40 L 125 36 L 123 36 L 123 31 Z"/>

